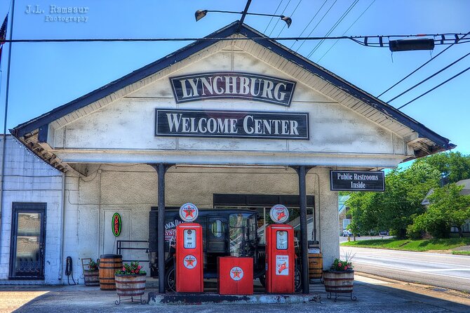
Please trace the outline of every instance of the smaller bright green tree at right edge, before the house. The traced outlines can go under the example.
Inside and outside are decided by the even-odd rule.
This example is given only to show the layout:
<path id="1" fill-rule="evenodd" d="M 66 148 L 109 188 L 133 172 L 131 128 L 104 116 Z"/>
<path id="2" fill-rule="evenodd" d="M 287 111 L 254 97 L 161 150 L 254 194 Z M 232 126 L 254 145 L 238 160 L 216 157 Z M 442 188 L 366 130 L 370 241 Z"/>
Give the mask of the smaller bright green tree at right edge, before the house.
<path id="1" fill-rule="evenodd" d="M 463 237 L 462 225 L 470 219 L 470 195 L 460 194 L 462 188 L 453 183 L 435 188 L 428 197 L 429 208 L 415 218 L 413 229 L 425 230 L 436 238 L 448 238 L 450 227 L 457 227 Z"/>

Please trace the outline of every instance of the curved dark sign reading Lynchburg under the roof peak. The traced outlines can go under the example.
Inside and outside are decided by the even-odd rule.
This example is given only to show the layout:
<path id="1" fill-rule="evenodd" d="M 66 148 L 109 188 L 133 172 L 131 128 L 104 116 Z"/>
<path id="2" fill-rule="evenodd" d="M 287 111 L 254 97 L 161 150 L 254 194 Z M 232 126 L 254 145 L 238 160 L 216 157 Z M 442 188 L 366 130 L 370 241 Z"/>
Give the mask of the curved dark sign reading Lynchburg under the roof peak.
<path id="1" fill-rule="evenodd" d="M 204 99 L 247 99 L 290 106 L 295 82 L 239 72 L 203 73 L 170 78 L 177 103 Z"/>

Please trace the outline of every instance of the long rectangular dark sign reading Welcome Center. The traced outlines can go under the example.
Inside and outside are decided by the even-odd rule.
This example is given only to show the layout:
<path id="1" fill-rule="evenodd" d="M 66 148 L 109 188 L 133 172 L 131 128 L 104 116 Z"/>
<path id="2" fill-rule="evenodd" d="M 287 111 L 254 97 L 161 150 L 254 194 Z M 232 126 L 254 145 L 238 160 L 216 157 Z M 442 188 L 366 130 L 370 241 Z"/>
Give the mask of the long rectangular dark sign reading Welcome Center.
<path id="1" fill-rule="evenodd" d="M 156 136 L 309 139 L 309 114 L 156 109 Z"/>

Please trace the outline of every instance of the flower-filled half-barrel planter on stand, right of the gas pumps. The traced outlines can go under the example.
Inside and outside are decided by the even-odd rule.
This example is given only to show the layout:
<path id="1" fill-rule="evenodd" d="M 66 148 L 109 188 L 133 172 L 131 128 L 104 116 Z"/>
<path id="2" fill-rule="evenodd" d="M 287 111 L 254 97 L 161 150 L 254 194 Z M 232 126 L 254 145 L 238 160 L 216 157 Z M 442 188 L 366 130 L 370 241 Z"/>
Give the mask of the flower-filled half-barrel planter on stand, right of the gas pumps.
<path id="1" fill-rule="evenodd" d="M 331 299 L 332 293 L 335 293 L 335 301 L 340 296 L 338 293 L 349 293 L 351 300 L 356 300 L 352 295 L 354 269 L 350 255 L 347 255 L 346 260 L 335 259 L 330 269 L 323 271 L 323 282 L 328 299 Z"/>

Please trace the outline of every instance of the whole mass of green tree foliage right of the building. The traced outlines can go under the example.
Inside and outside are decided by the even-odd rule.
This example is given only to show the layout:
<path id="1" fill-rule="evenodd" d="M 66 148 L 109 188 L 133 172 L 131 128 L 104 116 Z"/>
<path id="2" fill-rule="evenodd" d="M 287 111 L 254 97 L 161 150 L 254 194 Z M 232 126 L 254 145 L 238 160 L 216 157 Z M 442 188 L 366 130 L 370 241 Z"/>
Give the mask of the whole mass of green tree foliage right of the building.
<path id="1" fill-rule="evenodd" d="M 398 238 L 419 237 L 423 230 L 446 237 L 450 226 L 461 227 L 469 218 L 455 185 L 439 188 L 441 175 L 449 182 L 470 178 L 470 155 L 460 152 L 434 154 L 418 159 L 405 170 L 394 169 L 385 176 L 385 192 L 353 192 L 349 225 L 354 233 L 367 234 L 389 229 Z M 430 189 L 434 203 L 425 213 L 421 202 Z M 461 231 L 461 229 L 460 229 Z"/>

